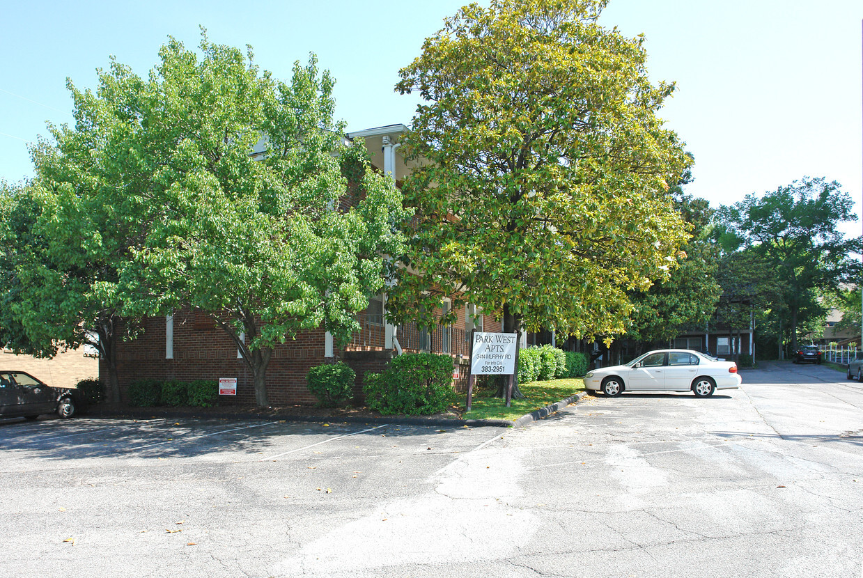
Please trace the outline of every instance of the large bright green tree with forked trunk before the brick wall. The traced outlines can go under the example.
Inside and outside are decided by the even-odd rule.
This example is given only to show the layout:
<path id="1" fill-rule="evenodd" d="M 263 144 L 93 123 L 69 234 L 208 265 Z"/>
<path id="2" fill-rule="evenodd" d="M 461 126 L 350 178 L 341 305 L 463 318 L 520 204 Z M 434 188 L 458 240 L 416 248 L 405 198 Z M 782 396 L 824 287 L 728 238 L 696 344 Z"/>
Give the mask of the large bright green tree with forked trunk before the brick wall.
<path id="1" fill-rule="evenodd" d="M 89 304 L 130 320 L 203 312 L 268 405 L 278 343 L 357 329 L 383 284 L 382 255 L 401 251 L 400 194 L 361 147 L 343 145 L 333 80 L 313 56 L 289 82 L 261 72 L 250 48 L 205 35 L 199 53 L 171 39 L 160 60 L 147 79 L 112 61 L 96 91 L 70 83 L 75 126 L 35 151 L 38 226 L 65 255 L 43 286 L 95 263 L 81 288 Z"/>

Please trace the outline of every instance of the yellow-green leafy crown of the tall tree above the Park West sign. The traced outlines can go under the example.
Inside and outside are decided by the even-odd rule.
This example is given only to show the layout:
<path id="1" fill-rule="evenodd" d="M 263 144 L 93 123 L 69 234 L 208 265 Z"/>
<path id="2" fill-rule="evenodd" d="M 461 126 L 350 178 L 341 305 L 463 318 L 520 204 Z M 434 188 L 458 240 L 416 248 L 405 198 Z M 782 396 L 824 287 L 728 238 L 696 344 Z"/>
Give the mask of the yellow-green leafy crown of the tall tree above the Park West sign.
<path id="1" fill-rule="evenodd" d="M 622 333 L 628 294 L 668 275 L 686 237 L 667 182 L 689 159 L 657 113 L 643 39 L 605 2 L 492 0 L 457 11 L 400 71 L 423 99 L 404 149 L 412 242 L 389 301 L 440 298 L 561 333 Z"/>

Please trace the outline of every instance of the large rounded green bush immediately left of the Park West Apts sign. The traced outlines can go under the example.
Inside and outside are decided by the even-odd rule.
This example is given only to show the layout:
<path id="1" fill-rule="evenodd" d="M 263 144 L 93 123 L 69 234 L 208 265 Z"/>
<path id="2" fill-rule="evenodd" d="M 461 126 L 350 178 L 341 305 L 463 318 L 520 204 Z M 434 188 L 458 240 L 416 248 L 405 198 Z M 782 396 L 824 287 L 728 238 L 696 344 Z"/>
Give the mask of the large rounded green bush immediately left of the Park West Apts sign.
<path id="1" fill-rule="evenodd" d="M 365 374 L 366 405 L 384 415 L 431 415 L 453 399 L 449 355 L 407 353 L 395 357 L 382 374 Z"/>

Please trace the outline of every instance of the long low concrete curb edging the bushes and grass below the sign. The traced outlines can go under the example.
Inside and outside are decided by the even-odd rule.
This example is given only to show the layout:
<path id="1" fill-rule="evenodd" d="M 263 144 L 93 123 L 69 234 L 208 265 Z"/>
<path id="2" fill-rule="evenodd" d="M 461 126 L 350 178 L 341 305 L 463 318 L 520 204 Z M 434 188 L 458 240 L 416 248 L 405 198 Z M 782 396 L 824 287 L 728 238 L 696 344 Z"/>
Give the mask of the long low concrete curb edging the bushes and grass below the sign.
<path id="1" fill-rule="evenodd" d="M 94 418 L 132 418 L 132 419 L 147 419 L 147 418 L 213 418 L 213 419 L 275 419 L 285 420 L 289 422 L 306 422 L 306 423 L 342 423 L 342 424 L 396 424 L 396 425 L 438 425 L 446 427 L 524 427 L 540 419 L 547 418 L 552 413 L 558 412 L 567 405 L 581 400 L 586 392 L 576 393 L 566 399 L 561 399 L 555 404 L 546 405 L 535 412 L 528 413 L 514 421 L 507 419 L 447 419 L 447 418 L 410 418 L 410 417 L 392 417 L 392 418 L 355 418 L 352 416 L 303 416 L 288 413 L 244 413 L 244 412 L 213 412 L 213 413 L 195 413 L 195 412 L 177 412 L 166 408 L 150 408 L 135 409 L 127 408 L 123 410 L 107 410 L 96 411 L 84 415 L 90 415 Z"/>

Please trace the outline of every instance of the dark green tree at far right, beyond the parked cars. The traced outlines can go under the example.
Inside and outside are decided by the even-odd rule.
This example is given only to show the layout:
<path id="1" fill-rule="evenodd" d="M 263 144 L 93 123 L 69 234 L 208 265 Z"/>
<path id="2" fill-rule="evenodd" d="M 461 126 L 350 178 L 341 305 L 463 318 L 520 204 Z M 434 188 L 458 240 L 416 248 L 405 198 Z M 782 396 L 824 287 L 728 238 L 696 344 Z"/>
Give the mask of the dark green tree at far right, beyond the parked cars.
<path id="1" fill-rule="evenodd" d="M 790 329 L 792 350 L 798 327 L 822 314 L 819 296 L 859 279 L 853 254 L 863 243 L 841 230 L 841 223 L 856 220 L 854 200 L 841 185 L 809 177 L 760 197 L 747 195 L 719 212 L 722 241 L 769 265 L 779 290 L 772 310 L 781 312 L 782 324 Z"/>

